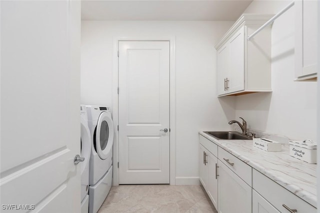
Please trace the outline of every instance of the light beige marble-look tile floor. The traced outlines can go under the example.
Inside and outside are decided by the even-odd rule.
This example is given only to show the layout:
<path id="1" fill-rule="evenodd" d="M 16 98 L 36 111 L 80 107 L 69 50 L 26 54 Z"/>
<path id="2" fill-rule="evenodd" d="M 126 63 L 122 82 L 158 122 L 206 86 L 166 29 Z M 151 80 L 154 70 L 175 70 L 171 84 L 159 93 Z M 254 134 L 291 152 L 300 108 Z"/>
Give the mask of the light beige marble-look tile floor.
<path id="1" fill-rule="evenodd" d="M 217 213 L 201 186 L 112 187 L 98 213 Z"/>

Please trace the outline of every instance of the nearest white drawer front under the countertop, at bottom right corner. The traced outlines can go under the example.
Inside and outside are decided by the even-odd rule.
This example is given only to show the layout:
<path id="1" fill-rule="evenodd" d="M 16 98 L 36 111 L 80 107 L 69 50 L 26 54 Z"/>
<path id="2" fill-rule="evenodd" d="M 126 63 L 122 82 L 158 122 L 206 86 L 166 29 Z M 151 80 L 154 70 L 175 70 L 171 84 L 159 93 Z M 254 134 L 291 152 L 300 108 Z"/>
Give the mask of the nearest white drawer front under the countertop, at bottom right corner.
<path id="1" fill-rule="evenodd" d="M 281 213 L 316 213 L 316 209 L 268 177 L 253 169 L 252 188 Z M 294 212 L 294 211 L 293 211 Z"/>

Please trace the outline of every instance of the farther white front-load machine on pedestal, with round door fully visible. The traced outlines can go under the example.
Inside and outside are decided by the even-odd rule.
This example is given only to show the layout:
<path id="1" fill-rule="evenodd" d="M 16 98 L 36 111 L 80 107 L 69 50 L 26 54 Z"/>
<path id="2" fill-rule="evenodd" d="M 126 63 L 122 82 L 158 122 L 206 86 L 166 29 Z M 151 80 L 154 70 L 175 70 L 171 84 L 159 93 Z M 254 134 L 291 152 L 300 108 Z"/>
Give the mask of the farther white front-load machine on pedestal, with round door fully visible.
<path id="1" fill-rule="evenodd" d="M 96 213 L 112 184 L 113 122 L 109 107 L 86 106 L 91 133 L 89 213 Z"/>

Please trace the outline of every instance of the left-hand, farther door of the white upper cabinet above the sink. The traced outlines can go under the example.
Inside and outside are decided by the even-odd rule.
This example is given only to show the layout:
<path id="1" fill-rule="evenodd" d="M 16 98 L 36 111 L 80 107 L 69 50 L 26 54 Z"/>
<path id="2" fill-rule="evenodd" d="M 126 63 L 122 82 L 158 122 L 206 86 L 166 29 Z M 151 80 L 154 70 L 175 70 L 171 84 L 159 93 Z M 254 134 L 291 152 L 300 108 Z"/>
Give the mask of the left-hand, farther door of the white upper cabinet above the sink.
<path id="1" fill-rule="evenodd" d="M 226 93 L 226 76 L 229 65 L 229 46 L 225 44 L 217 50 L 217 93 L 222 95 Z"/>

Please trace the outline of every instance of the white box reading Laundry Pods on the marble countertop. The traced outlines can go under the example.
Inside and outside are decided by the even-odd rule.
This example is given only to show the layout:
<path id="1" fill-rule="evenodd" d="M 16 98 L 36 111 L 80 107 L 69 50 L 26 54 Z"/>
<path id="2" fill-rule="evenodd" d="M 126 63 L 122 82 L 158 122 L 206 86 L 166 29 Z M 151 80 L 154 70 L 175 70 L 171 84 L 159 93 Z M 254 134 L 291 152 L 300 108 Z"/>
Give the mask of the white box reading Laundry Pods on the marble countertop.
<path id="1" fill-rule="evenodd" d="M 316 144 L 311 140 L 289 141 L 289 153 L 301 161 L 316 164 Z"/>

